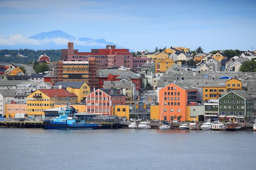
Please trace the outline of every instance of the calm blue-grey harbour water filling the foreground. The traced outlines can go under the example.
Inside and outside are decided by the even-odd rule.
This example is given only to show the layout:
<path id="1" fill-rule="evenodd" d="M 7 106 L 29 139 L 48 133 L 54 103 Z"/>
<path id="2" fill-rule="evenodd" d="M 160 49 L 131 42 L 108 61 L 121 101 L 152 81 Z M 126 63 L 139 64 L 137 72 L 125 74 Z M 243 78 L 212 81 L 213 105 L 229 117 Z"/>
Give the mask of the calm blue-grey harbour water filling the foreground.
<path id="1" fill-rule="evenodd" d="M 0 170 L 255 170 L 253 131 L 0 128 Z"/>

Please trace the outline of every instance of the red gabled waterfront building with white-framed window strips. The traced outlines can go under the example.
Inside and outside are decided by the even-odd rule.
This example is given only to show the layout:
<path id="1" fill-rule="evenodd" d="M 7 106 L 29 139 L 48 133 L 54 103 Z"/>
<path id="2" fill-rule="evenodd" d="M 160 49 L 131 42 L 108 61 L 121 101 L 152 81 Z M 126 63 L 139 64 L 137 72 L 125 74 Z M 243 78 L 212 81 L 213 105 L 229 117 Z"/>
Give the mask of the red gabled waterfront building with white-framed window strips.
<path id="1" fill-rule="evenodd" d="M 88 113 L 111 115 L 111 106 L 125 105 L 125 96 L 122 90 L 100 88 L 87 96 L 86 105 Z"/>

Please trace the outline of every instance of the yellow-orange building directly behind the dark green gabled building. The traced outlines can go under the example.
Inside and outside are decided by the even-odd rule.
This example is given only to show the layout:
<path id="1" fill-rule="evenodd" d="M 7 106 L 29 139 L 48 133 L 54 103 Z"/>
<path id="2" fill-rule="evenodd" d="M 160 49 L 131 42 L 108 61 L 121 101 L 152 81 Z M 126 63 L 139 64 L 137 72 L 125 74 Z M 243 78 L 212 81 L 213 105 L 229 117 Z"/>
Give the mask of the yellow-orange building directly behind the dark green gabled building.
<path id="1" fill-rule="evenodd" d="M 218 99 L 223 92 L 229 92 L 231 90 L 241 90 L 242 82 L 237 79 L 230 79 L 225 82 L 225 85 L 218 85 L 217 87 L 202 87 L 203 88 L 203 100 Z"/>

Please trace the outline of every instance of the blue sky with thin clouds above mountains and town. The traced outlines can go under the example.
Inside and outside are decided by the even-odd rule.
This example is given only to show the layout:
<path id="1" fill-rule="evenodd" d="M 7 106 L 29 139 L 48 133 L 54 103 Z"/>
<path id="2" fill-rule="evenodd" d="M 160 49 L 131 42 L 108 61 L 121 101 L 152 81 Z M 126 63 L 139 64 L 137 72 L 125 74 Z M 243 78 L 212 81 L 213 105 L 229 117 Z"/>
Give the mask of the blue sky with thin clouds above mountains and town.
<path id="1" fill-rule="evenodd" d="M 256 49 L 256 0 L 0 0 L 0 21 L 0 45 L 61 30 L 133 51 Z"/>

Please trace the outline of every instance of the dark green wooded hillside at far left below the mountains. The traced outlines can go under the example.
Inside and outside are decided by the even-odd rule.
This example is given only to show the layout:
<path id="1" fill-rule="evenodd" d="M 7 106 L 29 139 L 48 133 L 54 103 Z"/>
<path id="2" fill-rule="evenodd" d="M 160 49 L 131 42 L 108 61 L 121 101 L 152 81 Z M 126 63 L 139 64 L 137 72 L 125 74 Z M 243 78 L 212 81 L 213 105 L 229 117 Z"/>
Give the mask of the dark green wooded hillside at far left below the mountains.
<path id="1" fill-rule="evenodd" d="M 26 57 L 17 57 L 17 54 L 21 54 Z M 0 50 L 0 62 L 15 62 L 15 63 L 32 63 L 38 60 L 39 56 L 46 54 L 50 57 L 50 61 L 58 61 L 61 57 L 61 50 Z M 11 57 L 5 57 L 5 55 L 11 55 Z"/>

